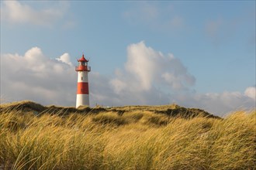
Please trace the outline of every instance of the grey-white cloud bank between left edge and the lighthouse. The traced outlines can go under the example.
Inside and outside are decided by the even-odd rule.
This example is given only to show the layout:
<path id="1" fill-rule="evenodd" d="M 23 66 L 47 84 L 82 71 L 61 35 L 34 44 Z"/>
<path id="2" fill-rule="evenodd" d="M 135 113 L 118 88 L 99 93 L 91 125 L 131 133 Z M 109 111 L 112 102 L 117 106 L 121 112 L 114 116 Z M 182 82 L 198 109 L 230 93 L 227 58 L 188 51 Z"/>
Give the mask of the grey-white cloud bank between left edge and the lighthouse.
<path id="1" fill-rule="evenodd" d="M 67 64 L 67 56 L 64 53 L 50 59 L 38 47 L 29 49 L 24 56 L 4 54 L 1 56 L 1 96 L 11 101 L 74 105 L 76 74 Z"/>

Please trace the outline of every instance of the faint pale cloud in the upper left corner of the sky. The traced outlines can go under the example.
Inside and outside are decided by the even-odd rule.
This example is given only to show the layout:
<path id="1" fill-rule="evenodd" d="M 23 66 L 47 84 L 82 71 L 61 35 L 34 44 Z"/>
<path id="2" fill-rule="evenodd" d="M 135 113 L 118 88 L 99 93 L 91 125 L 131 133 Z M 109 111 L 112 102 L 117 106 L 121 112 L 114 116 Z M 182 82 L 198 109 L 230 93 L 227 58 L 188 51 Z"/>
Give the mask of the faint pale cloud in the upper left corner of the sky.
<path id="1" fill-rule="evenodd" d="M 36 9 L 19 1 L 3 1 L 1 19 L 10 23 L 31 23 L 40 26 L 50 26 L 61 19 L 67 11 L 67 3 L 60 2 L 48 8 Z"/>

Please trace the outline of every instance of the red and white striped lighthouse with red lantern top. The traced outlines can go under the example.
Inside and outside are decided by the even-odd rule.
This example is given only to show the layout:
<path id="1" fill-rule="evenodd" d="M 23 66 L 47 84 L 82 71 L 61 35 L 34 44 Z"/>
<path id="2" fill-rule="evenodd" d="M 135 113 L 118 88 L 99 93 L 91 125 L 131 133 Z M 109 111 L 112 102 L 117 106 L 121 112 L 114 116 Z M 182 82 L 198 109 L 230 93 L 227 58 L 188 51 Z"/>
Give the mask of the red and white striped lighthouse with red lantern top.
<path id="1" fill-rule="evenodd" d="M 81 56 L 78 59 L 78 66 L 75 67 L 75 71 L 78 72 L 78 91 L 76 107 L 81 105 L 89 106 L 89 87 L 88 87 L 88 72 L 91 71 L 91 67 L 88 66 L 88 60 L 85 56 Z"/>

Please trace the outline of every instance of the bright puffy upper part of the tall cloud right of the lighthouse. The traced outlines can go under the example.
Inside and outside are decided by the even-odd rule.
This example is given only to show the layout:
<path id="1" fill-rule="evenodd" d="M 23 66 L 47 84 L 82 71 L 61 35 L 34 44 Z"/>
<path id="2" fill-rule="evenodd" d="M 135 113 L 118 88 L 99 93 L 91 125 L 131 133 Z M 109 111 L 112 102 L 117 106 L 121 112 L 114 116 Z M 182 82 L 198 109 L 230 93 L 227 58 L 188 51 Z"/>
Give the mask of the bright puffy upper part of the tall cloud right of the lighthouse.
<path id="1" fill-rule="evenodd" d="M 124 73 L 119 70 L 116 78 L 110 81 L 119 93 L 123 93 L 123 90 L 148 91 L 159 86 L 169 90 L 185 90 L 195 83 L 195 77 L 188 73 L 179 59 L 171 53 L 164 56 L 147 47 L 144 42 L 128 46 L 124 67 Z"/>

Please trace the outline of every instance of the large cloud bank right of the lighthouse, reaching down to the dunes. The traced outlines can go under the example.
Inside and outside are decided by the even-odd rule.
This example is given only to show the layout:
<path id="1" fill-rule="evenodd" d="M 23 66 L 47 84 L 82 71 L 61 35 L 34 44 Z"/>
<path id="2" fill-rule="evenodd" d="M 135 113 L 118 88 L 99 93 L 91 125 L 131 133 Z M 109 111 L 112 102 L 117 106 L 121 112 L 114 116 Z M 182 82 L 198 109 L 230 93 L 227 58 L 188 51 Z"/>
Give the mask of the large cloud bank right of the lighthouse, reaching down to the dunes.
<path id="1" fill-rule="evenodd" d="M 144 42 L 128 46 L 124 70 L 117 70 L 109 83 L 112 98 L 120 105 L 177 103 L 218 115 L 255 107 L 253 87 L 244 93 L 195 93 L 195 77 L 182 62 L 171 53 L 164 55 L 147 47 Z"/>

